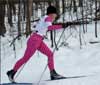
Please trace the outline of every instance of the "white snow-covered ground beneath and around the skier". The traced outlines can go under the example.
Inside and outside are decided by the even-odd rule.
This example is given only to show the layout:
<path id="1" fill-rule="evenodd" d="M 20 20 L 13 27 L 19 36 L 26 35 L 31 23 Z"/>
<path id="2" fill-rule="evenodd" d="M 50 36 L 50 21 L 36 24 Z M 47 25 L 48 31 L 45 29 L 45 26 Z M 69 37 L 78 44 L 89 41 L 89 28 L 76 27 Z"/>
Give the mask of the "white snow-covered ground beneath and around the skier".
<path id="1" fill-rule="evenodd" d="M 56 71 L 66 77 L 69 76 L 87 76 L 82 78 L 72 78 L 59 81 L 44 81 L 50 79 L 49 70 L 44 73 L 40 83 L 43 85 L 100 85 L 100 43 L 90 44 L 90 41 L 100 42 L 100 24 L 98 24 L 98 38 L 94 37 L 94 25 L 88 25 L 86 34 L 82 34 L 82 46 L 80 49 L 79 34 L 73 31 L 66 42 L 67 46 L 61 46 L 55 51 Z M 79 27 L 76 27 L 77 29 Z M 62 30 L 58 31 L 61 34 Z M 66 37 L 70 34 L 66 29 Z M 66 38 L 65 37 L 65 38 Z M 59 36 L 57 37 L 59 38 Z M 7 36 L 2 38 L 1 50 L 1 83 L 9 82 L 6 72 L 12 69 L 15 62 L 20 59 L 26 48 L 27 39 L 22 37 L 16 41 L 16 56 L 13 52 L 13 46 L 9 46 L 12 38 Z M 45 40 L 50 47 L 50 40 Z M 53 50 L 53 49 L 52 49 Z M 16 57 L 16 58 L 15 58 Z M 38 51 L 27 62 L 21 73 L 16 77 L 17 82 L 37 83 L 47 64 L 47 57 Z"/>

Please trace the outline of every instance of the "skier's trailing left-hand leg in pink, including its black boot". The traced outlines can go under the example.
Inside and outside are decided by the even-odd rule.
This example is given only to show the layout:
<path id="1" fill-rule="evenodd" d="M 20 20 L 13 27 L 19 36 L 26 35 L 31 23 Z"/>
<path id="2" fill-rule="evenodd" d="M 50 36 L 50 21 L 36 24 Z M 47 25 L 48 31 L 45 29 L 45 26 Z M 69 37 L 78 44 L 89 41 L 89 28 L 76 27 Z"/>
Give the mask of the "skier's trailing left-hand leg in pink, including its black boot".
<path id="1" fill-rule="evenodd" d="M 24 56 L 19 61 L 17 61 L 17 63 L 15 64 L 12 70 L 7 72 L 8 78 L 11 82 L 14 81 L 14 75 L 17 72 L 17 70 L 31 58 L 31 56 L 40 46 L 41 41 L 42 38 L 36 34 L 29 38 Z"/>

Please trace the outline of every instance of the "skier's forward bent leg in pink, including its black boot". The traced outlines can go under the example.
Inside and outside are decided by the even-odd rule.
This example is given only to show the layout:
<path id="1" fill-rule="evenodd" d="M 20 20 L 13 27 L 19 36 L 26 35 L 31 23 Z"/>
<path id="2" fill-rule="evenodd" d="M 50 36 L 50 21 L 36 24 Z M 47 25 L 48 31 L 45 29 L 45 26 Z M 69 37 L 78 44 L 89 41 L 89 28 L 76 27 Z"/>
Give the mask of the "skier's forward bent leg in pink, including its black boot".
<path id="1" fill-rule="evenodd" d="M 40 52 L 42 52 L 43 54 L 45 54 L 46 56 L 48 56 L 48 67 L 50 69 L 50 77 L 51 80 L 55 80 L 55 79 L 63 79 L 65 77 L 59 75 L 54 68 L 54 59 L 53 59 L 53 52 L 48 48 L 48 46 L 42 42 L 39 49 Z"/>

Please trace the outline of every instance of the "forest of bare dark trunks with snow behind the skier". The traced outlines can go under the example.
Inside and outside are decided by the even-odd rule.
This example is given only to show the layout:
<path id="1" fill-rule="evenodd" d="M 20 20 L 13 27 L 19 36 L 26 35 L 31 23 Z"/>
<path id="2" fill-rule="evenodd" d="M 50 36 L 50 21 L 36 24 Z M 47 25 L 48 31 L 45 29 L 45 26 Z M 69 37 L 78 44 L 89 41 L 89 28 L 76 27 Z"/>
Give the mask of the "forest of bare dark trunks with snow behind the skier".
<path id="1" fill-rule="evenodd" d="M 85 22 L 81 24 L 82 33 L 86 33 L 88 30 L 86 22 L 95 22 L 94 36 L 98 37 L 97 20 L 100 20 L 100 0 L 0 0 L 0 10 L 2 11 L 0 12 L 0 35 L 4 36 L 6 29 L 8 31 L 8 27 L 5 26 L 5 17 L 10 26 L 9 33 L 19 37 L 23 34 L 30 35 L 34 30 L 32 24 L 37 22 L 40 16 L 46 14 L 46 7 L 49 4 L 57 7 L 58 19 L 62 18 L 62 22 Z M 54 34 L 52 47 L 53 44 L 56 46 L 55 33 L 52 33 Z"/>

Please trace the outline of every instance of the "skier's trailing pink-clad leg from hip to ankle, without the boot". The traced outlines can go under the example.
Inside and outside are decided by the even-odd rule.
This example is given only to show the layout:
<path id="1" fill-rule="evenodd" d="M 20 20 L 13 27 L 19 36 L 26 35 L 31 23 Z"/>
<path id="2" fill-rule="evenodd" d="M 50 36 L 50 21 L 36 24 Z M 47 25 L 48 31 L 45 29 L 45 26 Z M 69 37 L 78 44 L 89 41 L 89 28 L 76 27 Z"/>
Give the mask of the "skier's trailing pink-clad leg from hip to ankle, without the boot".
<path id="1" fill-rule="evenodd" d="M 35 38 L 39 38 L 38 36 L 36 36 Z M 24 56 L 17 61 L 17 63 L 14 66 L 14 71 L 17 71 L 24 63 L 26 63 L 31 57 L 32 55 L 35 53 L 35 51 L 37 50 L 37 48 L 40 46 L 41 43 L 41 39 L 29 39 L 28 43 L 27 43 L 27 48 L 26 51 L 24 53 Z"/>

